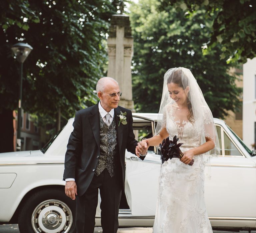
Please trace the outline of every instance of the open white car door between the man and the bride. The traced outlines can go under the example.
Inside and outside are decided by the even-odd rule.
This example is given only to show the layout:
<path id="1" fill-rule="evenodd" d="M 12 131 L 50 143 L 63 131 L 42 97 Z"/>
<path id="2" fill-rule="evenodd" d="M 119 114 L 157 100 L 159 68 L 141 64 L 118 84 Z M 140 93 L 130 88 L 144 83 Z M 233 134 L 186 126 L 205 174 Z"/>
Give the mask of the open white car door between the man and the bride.
<path id="1" fill-rule="evenodd" d="M 154 135 L 154 120 L 134 117 L 133 122 L 138 141 Z M 159 172 L 160 155 L 157 154 L 156 147 L 149 147 L 143 161 L 134 154 L 126 153 L 125 194 L 132 215 L 155 215 Z"/>

